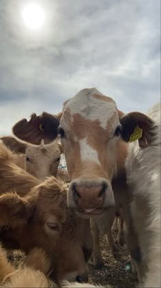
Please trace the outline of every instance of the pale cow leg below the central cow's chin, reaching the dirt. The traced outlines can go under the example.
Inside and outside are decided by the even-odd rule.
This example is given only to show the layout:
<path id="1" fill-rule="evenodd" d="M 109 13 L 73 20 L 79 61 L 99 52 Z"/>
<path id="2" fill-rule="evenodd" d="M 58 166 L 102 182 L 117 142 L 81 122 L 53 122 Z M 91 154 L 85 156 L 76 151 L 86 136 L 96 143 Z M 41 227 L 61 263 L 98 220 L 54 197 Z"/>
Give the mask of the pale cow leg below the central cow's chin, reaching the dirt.
<path id="1" fill-rule="evenodd" d="M 101 268 L 104 263 L 100 252 L 100 231 L 95 219 L 91 219 L 91 232 L 93 235 L 93 264 Z"/>

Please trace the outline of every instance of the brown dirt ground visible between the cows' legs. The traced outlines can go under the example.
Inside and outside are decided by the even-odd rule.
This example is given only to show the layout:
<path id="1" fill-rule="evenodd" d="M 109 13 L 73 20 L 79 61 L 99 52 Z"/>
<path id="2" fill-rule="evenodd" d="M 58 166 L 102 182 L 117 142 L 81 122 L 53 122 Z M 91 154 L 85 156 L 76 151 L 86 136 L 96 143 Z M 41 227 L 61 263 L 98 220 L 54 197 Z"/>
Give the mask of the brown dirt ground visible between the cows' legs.
<path id="1" fill-rule="evenodd" d="M 115 237 L 115 235 L 114 235 Z M 111 285 L 111 288 L 131 288 L 138 284 L 136 276 L 130 270 L 128 252 L 126 246 L 117 244 L 118 252 L 115 257 L 108 248 L 108 243 L 105 236 L 100 237 L 102 257 L 104 260 L 104 267 L 96 269 L 93 266 L 92 260 L 89 261 L 89 283 L 94 285 L 102 285 L 106 287 Z M 14 252 L 12 263 L 15 267 L 23 261 L 25 255 L 21 252 Z M 128 269 L 129 268 L 129 269 Z M 53 287 L 50 283 L 50 287 Z"/>

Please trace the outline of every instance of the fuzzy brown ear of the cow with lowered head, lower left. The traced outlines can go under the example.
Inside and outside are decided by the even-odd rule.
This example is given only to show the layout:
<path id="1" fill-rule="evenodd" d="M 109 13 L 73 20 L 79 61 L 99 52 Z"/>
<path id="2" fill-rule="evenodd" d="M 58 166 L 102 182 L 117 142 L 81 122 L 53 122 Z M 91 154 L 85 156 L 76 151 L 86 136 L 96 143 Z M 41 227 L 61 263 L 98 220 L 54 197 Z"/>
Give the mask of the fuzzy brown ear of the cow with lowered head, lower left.
<path id="1" fill-rule="evenodd" d="M 8 192 L 0 196 L 0 226 L 16 228 L 27 223 L 34 207 L 25 198 Z"/>

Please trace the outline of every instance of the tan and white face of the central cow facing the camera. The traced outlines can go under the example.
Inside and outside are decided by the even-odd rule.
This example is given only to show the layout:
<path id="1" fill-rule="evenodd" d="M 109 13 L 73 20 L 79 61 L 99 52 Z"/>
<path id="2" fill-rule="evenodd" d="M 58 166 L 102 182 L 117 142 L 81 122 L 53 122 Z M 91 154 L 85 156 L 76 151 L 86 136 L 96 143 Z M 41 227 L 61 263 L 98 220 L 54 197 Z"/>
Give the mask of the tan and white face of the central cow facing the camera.
<path id="1" fill-rule="evenodd" d="M 59 134 L 72 180 L 68 206 L 84 215 L 115 205 L 111 180 L 121 125 L 115 101 L 96 89 L 84 89 L 67 101 Z"/>

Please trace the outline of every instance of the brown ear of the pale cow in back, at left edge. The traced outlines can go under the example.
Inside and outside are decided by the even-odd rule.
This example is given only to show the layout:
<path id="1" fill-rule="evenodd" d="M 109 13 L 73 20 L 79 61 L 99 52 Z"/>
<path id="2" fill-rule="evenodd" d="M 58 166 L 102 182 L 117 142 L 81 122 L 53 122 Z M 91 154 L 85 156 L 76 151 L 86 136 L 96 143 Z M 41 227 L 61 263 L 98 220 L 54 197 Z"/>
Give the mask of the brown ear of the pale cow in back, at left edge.
<path id="1" fill-rule="evenodd" d="M 4 136 L 0 138 L 1 141 L 10 148 L 12 152 L 25 154 L 25 150 L 27 149 L 27 143 L 23 143 L 22 141 L 18 141 L 16 138 L 12 136 Z"/>

